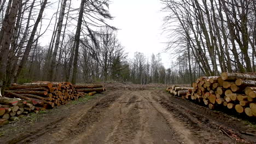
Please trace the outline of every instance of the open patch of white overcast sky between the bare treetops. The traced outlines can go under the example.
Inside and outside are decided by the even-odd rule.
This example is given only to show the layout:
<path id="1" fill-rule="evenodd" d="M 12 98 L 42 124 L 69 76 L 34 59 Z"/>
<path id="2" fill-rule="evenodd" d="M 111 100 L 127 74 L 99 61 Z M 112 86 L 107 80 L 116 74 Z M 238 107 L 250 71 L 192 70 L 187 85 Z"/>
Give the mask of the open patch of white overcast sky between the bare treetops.
<path id="1" fill-rule="evenodd" d="M 146 57 L 165 49 L 167 41 L 162 33 L 164 14 L 159 0 L 112 0 L 109 11 L 114 20 L 110 23 L 119 28 L 118 39 L 132 58 L 136 51 Z M 161 53 L 162 64 L 170 66 L 170 54 Z"/>

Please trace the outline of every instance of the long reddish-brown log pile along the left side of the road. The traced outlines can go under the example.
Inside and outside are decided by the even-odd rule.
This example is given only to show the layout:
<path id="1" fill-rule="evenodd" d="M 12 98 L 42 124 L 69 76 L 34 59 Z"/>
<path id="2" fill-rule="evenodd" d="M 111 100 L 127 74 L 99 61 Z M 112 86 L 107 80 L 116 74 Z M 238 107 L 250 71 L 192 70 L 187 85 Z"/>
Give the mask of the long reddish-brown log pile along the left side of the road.
<path id="1" fill-rule="evenodd" d="M 0 125 L 15 121 L 27 113 L 52 109 L 77 100 L 84 95 L 106 91 L 103 85 L 72 85 L 70 82 L 37 81 L 17 85 L 13 83 L 0 97 Z"/>

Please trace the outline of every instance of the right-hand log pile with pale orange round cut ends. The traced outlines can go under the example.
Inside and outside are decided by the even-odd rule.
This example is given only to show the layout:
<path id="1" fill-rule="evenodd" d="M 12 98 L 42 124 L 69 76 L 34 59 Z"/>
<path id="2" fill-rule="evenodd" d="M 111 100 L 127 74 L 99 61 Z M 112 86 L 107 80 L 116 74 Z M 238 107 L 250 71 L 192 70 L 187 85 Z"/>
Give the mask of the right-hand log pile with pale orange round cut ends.
<path id="1" fill-rule="evenodd" d="M 172 87 L 167 91 L 177 95 Z M 220 76 L 200 77 L 183 98 L 207 105 L 209 109 L 225 106 L 237 113 L 256 117 L 256 73 L 225 72 Z"/>

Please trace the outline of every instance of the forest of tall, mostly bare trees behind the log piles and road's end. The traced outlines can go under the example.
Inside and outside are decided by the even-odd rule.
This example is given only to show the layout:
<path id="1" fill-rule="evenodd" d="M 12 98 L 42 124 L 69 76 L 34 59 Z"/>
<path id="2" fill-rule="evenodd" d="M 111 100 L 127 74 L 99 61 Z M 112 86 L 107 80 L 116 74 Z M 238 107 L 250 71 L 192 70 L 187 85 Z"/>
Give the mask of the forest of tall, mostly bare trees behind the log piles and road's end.
<path id="1" fill-rule="evenodd" d="M 192 83 L 202 75 L 255 71 L 255 1 L 159 2 L 168 34 L 162 52 L 171 51 L 176 58 L 171 68 L 161 63 L 161 53 L 128 57 L 118 28 L 108 24 L 114 19 L 108 0 L 1 0 L 0 85 Z M 46 34 L 50 41 L 44 41 Z"/>

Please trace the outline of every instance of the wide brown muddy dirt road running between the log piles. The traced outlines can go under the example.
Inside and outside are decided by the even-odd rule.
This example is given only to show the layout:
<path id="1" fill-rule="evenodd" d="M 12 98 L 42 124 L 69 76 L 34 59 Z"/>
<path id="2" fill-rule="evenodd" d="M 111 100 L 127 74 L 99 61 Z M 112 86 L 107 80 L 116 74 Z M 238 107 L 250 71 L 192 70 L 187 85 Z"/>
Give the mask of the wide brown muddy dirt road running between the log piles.
<path id="1" fill-rule="evenodd" d="M 0 143 L 255 143 L 256 129 L 153 85 L 109 85 L 87 103 L 62 106 L 0 130 Z M 1 134 L 1 133 L 0 133 Z"/>

